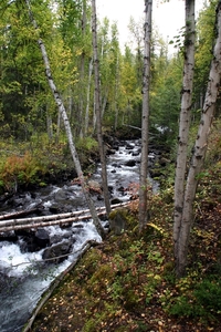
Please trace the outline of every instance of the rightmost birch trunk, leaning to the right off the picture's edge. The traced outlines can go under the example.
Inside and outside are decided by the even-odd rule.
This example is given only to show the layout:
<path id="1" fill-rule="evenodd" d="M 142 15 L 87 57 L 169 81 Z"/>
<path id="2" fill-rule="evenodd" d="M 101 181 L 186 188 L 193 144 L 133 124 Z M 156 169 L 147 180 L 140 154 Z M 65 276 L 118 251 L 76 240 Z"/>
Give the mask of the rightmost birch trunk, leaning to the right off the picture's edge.
<path id="1" fill-rule="evenodd" d="M 217 97 L 220 90 L 221 80 L 221 0 L 217 7 L 215 20 L 217 41 L 213 49 L 213 59 L 211 62 L 209 82 L 207 86 L 206 100 L 203 103 L 201 121 L 198 129 L 197 139 L 192 153 L 190 168 L 187 178 L 182 219 L 180 225 L 178 256 L 177 256 L 177 276 L 181 277 L 185 273 L 187 266 L 188 243 L 190 230 L 192 226 L 193 200 L 199 179 L 199 174 L 202 170 L 206 152 L 208 147 L 208 137 L 212 124 Z"/>

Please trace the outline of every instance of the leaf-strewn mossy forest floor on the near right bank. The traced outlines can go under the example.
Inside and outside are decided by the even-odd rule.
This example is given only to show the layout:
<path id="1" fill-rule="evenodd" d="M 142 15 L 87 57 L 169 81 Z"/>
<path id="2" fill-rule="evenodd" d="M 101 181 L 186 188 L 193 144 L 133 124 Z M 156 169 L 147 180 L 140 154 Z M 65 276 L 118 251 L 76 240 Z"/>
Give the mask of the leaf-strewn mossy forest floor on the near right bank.
<path id="1" fill-rule="evenodd" d="M 127 229 L 109 232 L 71 270 L 39 312 L 32 332 L 221 331 L 221 162 L 201 174 L 187 276 L 175 277 L 172 185 L 149 195 L 138 232 L 136 201 Z"/>

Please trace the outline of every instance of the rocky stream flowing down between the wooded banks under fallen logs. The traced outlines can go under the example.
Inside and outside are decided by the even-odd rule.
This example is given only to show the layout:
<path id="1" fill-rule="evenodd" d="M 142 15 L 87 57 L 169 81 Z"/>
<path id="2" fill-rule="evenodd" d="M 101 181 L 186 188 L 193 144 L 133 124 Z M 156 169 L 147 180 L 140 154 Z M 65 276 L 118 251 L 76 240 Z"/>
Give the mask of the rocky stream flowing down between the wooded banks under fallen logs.
<path id="1" fill-rule="evenodd" d="M 149 154 L 149 163 L 156 158 Z M 107 176 L 112 204 L 130 199 L 127 190 L 133 184 L 139 183 L 140 142 L 119 142 L 117 148 L 107 157 Z M 101 184 L 101 166 L 97 165 L 92 176 L 94 183 Z M 135 187 L 135 186 L 134 186 Z M 152 181 L 154 190 L 158 184 Z M 96 207 L 104 206 L 104 200 L 94 194 Z M 1 205 L 0 214 L 9 214 L 23 209 L 41 207 L 41 214 L 50 215 L 82 210 L 86 207 L 82 189 L 74 181 L 62 186 L 50 185 L 34 193 L 23 193 L 12 201 Z M 15 208 L 14 208 L 15 206 Z M 43 211 L 43 212 L 42 212 Z M 108 220 L 102 220 L 108 228 Z M 31 317 L 43 292 L 50 283 L 64 271 L 81 253 L 87 240 L 101 241 L 101 237 L 92 220 L 73 222 L 69 227 L 49 226 L 38 230 L 38 235 L 27 231 L 10 232 L 0 237 L 0 331 L 20 332 Z M 54 252 L 69 253 L 67 258 L 46 263 L 45 258 Z M 59 250 L 59 251 L 56 251 Z"/>

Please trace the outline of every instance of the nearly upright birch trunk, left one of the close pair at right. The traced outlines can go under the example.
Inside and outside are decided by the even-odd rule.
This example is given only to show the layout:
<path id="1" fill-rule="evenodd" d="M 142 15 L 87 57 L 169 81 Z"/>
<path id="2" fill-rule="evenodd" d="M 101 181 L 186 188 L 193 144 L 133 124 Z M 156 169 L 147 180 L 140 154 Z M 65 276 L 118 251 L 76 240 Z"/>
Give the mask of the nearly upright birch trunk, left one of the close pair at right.
<path id="1" fill-rule="evenodd" d="M 173 243 L 175 259 L 178 263 L 178 243 L 181 219 L 183 212 L 185 179 L 187 168 L 188 136 L 192 107 L 192 86 L 194 71 L 194 0 L 186 0 L 186 35 L 185 35 L 185 64 L 182 81 L 182 100 L 178 136 L 178 153 L 175 177 L 175 224 Z"/>

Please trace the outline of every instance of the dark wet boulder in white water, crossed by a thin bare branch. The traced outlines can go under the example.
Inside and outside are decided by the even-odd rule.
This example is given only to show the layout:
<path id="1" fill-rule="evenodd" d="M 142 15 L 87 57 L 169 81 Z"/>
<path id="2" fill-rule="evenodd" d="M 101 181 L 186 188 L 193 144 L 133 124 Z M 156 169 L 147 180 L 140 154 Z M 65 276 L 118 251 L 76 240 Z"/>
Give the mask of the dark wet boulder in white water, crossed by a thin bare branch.
<path id="1" fill-rule="evenodd" d="M 44 250 L 42 258 L 48 260 L 49 263 L 60 263 L 66 259 L 66 256 L 71 252 L 71 242 L 63 241 L 62 243 L 54 245 Z"/>

